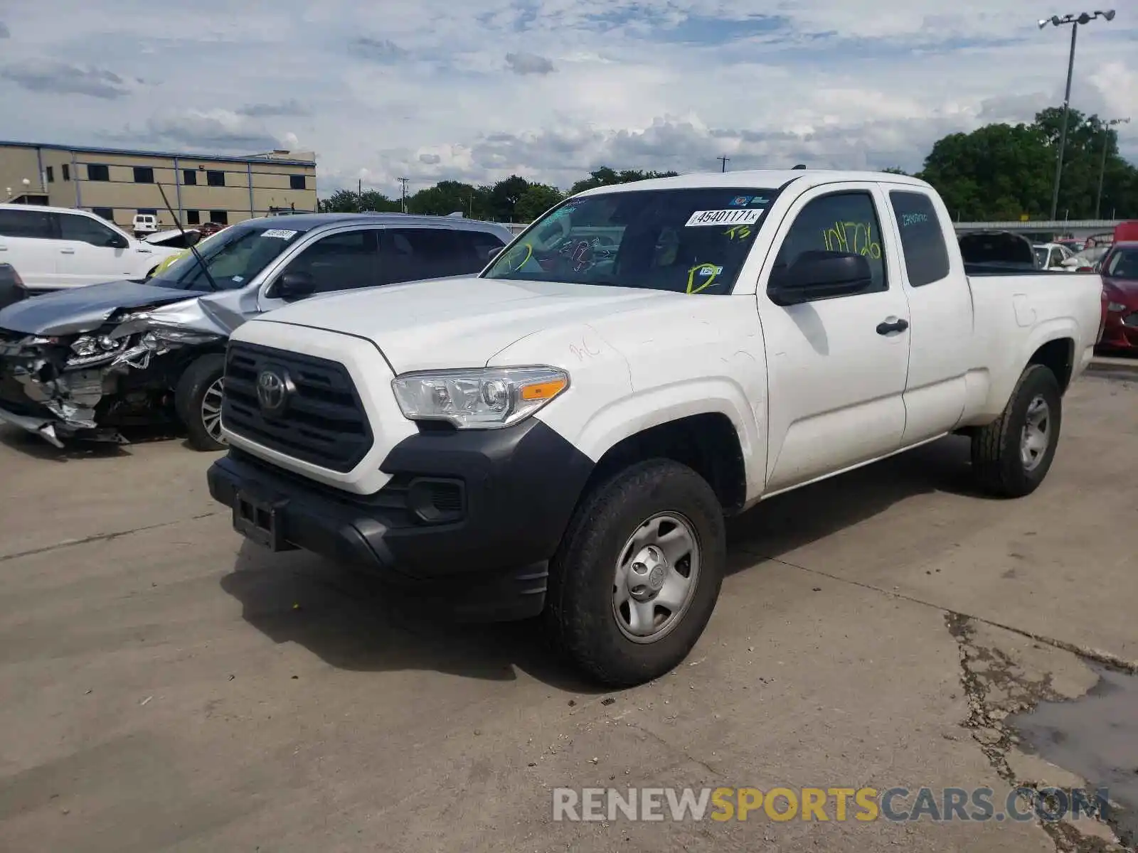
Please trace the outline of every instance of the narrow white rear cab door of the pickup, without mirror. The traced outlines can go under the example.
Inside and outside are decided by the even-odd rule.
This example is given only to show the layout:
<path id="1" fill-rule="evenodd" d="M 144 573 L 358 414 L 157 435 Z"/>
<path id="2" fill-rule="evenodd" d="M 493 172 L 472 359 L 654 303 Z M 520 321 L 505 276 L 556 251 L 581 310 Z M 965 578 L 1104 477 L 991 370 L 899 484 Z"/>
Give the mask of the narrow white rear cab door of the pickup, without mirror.
<path id="1" fill-rule="evenodd" d="M 951 430 L 967 398 L 972 292 L 948 209 L 918 187 L 883 184 L 909 301 L 909 375 L 904 446 Z"/>

